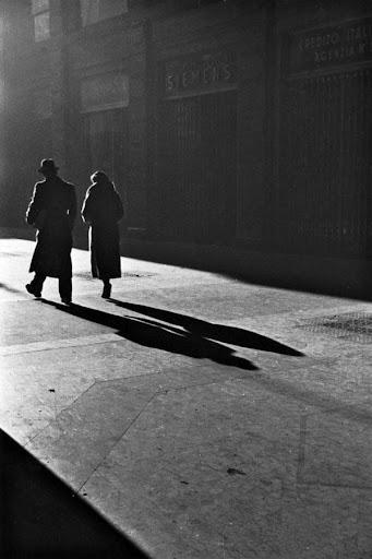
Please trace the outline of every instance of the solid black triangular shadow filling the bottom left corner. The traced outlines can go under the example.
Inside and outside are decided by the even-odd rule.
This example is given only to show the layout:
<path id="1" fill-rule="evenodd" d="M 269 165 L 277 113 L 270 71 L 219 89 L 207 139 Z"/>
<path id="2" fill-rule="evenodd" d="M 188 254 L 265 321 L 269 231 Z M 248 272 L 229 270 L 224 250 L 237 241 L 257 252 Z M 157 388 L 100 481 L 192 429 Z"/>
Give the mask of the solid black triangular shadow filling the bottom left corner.
<path id="1" fill-rule="evenodd" d="M 0 430 L 2 559 L 149 559 Z"/>

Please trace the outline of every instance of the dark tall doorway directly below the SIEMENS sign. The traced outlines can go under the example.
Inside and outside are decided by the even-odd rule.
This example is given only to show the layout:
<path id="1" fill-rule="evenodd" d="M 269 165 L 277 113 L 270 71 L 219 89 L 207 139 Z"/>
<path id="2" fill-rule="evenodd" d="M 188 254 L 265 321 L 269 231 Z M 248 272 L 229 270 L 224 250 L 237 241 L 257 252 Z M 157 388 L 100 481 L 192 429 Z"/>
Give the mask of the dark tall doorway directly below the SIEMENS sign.
<path id="1" fill-rule="evenodd" d="M 228 242 L 236 227 L 236 92 L 163 102 L 158 122 L 155 233 Z"/>

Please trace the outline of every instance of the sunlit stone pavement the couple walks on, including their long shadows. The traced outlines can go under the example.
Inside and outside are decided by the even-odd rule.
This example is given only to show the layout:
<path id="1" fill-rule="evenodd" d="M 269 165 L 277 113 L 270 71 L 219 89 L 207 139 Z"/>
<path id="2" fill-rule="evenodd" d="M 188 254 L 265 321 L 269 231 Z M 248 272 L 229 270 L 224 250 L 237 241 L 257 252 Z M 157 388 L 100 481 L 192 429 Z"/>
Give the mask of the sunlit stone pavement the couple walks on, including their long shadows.
<path id="1" fill-rule="evenodd" d="M 106 301 L 74 250 L 69 308 L 24 292 L 32 250 L 0 240 L 0 427 L 31 456 L 152 559 L 371 559 L 371 304 L 125 258 Z"/>

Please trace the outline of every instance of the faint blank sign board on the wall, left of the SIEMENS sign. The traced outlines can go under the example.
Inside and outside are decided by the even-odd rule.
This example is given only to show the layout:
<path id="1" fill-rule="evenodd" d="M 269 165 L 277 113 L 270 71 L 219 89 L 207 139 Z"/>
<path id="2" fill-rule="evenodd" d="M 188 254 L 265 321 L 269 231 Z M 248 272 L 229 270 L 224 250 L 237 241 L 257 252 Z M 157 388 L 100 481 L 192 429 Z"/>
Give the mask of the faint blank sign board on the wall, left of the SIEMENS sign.
<path id="1" fill-rule="evenodd" d="M 84 79 L 81 84 L 81 102 L 83 112 L 128 107 L 128 75 L 108 73 Z"/>

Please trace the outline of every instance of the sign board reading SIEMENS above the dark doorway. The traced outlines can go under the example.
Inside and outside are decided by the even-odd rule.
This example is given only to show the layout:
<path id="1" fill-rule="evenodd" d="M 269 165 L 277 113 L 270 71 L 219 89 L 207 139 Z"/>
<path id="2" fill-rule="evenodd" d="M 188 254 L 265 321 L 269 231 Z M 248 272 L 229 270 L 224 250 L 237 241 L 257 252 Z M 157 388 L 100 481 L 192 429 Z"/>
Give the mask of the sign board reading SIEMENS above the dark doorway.
<path id="1" fill-rule="evenodd" d="M 164 95 L 171 98 L 230 90 L 237 81 L 233 52 L 196 55 L 165 63 Z"/>

